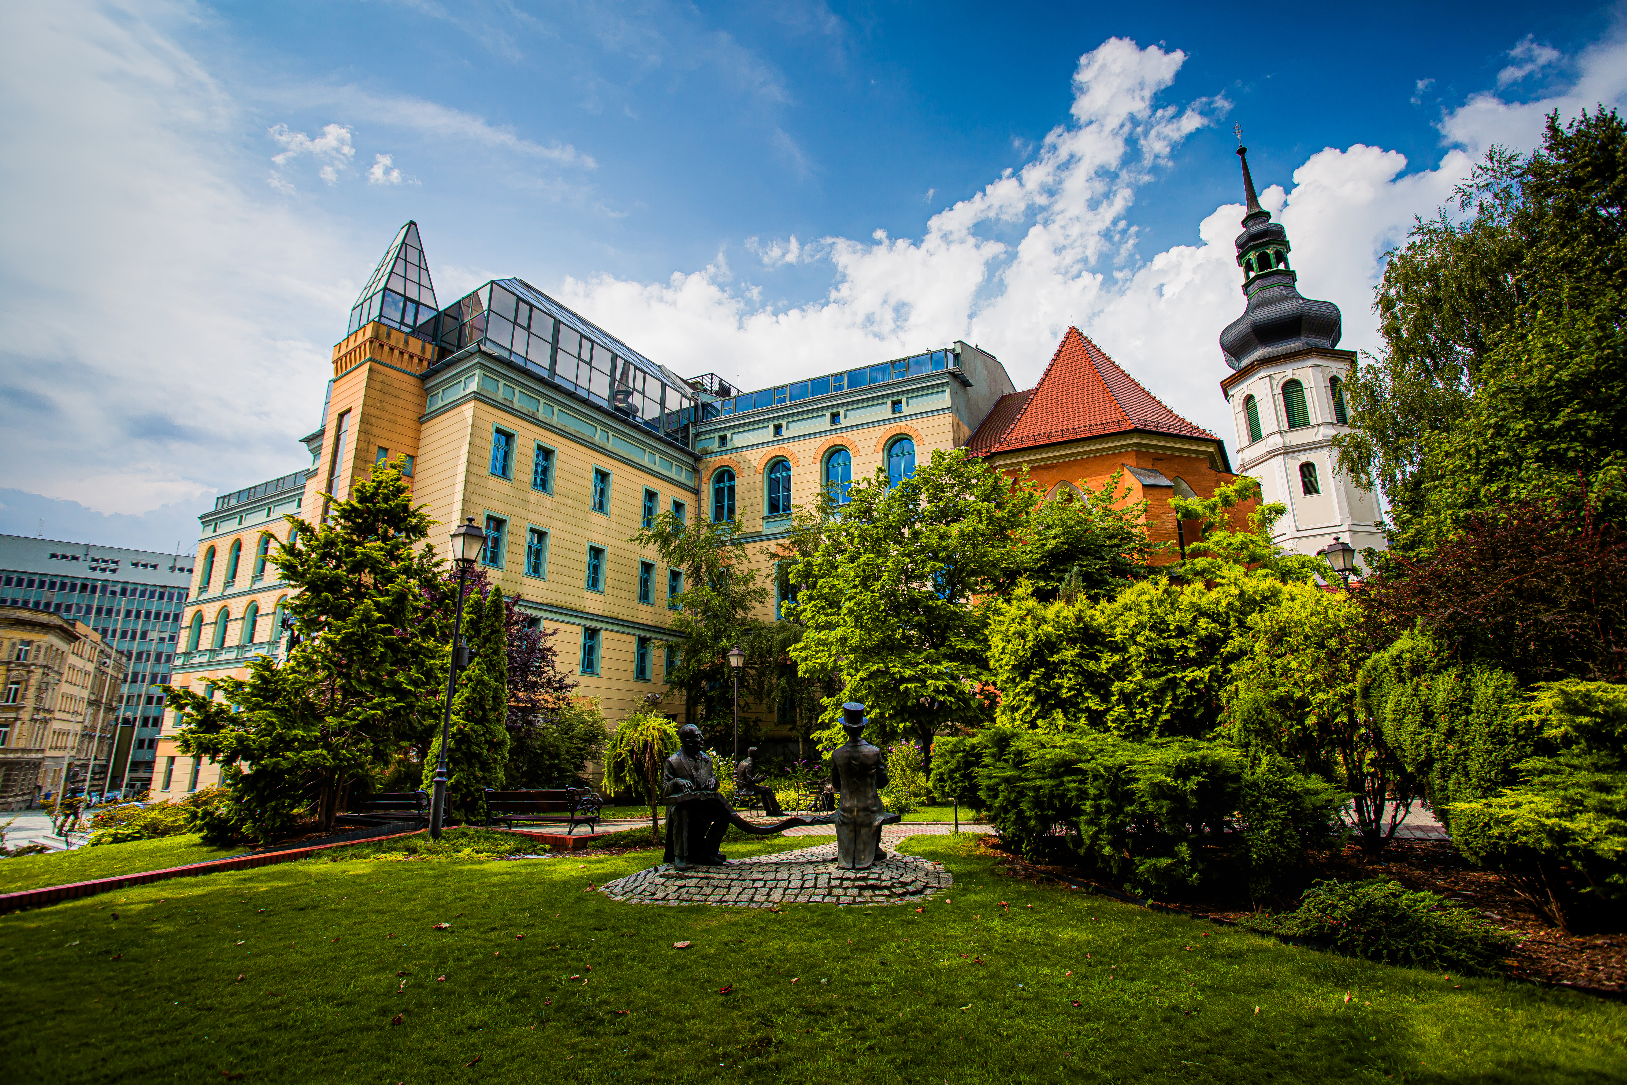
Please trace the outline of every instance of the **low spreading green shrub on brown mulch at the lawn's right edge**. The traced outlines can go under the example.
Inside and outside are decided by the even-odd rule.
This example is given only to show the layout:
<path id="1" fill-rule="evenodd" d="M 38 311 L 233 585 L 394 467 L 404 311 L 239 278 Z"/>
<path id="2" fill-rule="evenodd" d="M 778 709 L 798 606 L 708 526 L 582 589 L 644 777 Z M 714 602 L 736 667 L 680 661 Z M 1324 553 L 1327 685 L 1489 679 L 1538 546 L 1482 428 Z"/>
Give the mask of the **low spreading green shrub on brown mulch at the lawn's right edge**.
<path id="1" fill-rule="evenodd" d="M 1316 939 L 1385 965 L 1456 973 L 1495 971 L 1515 943 L 1515 935 L 1485 922 L 1474 908 L 1381 880 L 1318 882 L 1305 891 L 1297 909 L 1256 916 L 1243 926 Z"/>

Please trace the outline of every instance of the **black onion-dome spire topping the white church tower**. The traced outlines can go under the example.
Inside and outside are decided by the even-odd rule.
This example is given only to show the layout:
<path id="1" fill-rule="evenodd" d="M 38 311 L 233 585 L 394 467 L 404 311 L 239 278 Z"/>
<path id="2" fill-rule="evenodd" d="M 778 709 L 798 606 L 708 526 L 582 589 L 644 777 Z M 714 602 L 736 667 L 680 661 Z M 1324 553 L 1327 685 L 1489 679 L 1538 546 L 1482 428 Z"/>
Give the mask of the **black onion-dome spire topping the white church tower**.
<path id="1" fill-rule="evenodd" d="M 1238 133 L 1241 138 L 1241 133 Z M 1243 268 L 1243 296 L 1248 307 L 1220 332 L 1220 350 L 1233 369 L 1256 361 L 1292 355 L 1313 346 L 1339 345 L 1341 314 L 1331 301 L 1300 296 L 1298 273 L 1289 268 L 1289 231 L 1271 221 L 1259 205 L 1254 177 L 1248 172 L 1248 148 L 1238 146 L 1243 163 L 1243 233 L 1237 236 L 1237 265 Z"/>

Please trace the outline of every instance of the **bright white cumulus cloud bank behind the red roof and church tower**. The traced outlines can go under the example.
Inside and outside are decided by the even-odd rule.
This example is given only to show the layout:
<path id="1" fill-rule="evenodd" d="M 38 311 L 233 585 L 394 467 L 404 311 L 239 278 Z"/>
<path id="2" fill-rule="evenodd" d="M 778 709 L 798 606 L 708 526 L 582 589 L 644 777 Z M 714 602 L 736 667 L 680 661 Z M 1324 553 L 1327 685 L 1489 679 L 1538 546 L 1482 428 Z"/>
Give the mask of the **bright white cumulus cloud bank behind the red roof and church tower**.
<path id="1" fill-rule="evenodd" d="M 1163 101 L 1183 62 L 1180 50 L 1126 39 L 1087 52 L 1069 122 L 1025 166 L 927 220 L 918 239 L 880 229 L 869 241 L 752 239 L 765 272 L 830 262 L 828 291 L 809 304 L 763 304 L 760 286 L 732 281 L 718 262 L 661 283 L 569 278 L 561 299 L 680 373 L 718 371 L 745 387 L 955 338 L 996 353 L 1023 387 L 1077 324 L 1171 408 L 1235 442 L 1217 338 L 1243 311 L 1233 247 L 1241 200 L 1202 220 L 1201 244 L 1126 260 L 1137 189 L 1227 109 L 1222 98 Z M 1427 169 L 1409 172 L 1401 153 L 1357 143 L 1316 151 L 1290 185 L 1261 194 L 1289 231 L 1302 290 L 1344 311 L 1344 346 L 1376 345 L 1372 290 L 1383 254 L 1415 215 L 1450 200 L 1489 143 L 1529 148 L 1549 109 L 1620 102 L 1627 55 L 1616 37 L 1578 55 L 1577 72 L 1573 86 L 1541 101 L 1471 98 L 1443 119 L 1448 146 Z"/>

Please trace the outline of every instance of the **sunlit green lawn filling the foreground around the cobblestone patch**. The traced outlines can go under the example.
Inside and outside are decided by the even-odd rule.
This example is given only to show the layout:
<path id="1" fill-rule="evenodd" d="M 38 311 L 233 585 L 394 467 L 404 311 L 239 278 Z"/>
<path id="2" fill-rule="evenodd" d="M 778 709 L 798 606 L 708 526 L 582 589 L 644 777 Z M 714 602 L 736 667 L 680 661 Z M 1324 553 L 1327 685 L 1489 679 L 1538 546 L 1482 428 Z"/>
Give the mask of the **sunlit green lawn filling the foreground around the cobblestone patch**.
<path id="1" fill-rule="evenodd" d="M 3 916 L 0 1065 L 52 1085 L 1627 1080 L 1619 1004 L 1017 883 L 965 838 L 906 851 L 957 882 L 921 913 L 618 904 L 589 885 L 651 852 L 371 846 Z"/>

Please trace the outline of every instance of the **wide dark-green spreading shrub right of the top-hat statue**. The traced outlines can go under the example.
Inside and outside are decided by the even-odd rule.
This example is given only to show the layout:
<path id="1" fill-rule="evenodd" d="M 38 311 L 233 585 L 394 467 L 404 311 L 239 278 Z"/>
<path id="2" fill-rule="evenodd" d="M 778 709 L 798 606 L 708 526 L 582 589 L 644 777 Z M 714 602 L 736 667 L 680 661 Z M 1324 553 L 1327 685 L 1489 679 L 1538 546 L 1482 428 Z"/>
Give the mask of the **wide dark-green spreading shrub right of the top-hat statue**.
<path id="1" fill-rule="evenodd" d="M 1199 885 L 1207 846 L 1225 841 L 1228 826 L 1240 830 L 1233 857 L 1256 893 L 1271 891 L 1331 831 L 1344 800 L 1280 758 L 1250 761 L 1220 742 L 1010 727 L 940 739 L 932 786 L 983 810 L 1023 854 L 1038 856 L 1062 828 L 1088 870 L 1160 895 Z"/>

